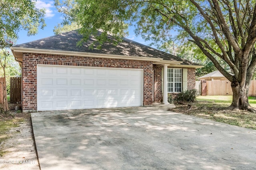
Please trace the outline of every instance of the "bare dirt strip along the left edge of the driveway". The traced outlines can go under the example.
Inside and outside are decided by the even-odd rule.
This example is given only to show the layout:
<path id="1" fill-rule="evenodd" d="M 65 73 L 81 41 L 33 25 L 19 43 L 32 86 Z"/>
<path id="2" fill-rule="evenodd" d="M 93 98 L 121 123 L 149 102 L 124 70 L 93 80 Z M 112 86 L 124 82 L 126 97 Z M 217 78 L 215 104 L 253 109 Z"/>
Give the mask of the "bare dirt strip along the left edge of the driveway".
<path id="1" fill-rule="evenodd" d="M 22 119 L 18 121 L 18 127 L 12 127 L 7 132 L 9 138 L 0 143 L 0 169 L 39 170 L 30 114 L 16 113 L 14 108 L 17 105 L 19 104 L 9 104 L 9 114 L 0 114 L 0 121 Z"/>

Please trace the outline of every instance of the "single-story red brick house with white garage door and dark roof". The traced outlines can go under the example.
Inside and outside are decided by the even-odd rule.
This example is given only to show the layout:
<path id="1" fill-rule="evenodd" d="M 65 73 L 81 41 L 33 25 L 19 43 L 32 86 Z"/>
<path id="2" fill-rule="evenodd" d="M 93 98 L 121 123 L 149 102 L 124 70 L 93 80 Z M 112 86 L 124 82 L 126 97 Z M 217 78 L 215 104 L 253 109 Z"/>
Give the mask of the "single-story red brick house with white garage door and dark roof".
<path id="1" fill-rule="evenodd" d="M 11 47 L 23 111 L 168 104 L 168 93 L 195 88 L 196 63 L 125 38 L 89 49 L 91 37 L 78 47 L 81 38 L 75 30 Z"/>

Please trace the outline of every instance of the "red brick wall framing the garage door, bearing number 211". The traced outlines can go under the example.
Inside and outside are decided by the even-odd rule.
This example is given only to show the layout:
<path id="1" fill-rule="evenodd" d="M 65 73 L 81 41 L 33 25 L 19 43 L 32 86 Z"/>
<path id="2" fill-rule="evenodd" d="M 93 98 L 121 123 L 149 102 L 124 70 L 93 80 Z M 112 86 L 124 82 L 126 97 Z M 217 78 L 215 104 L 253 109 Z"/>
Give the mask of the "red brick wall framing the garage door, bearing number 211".
<path id="1" fill-rule="evenodd" d="M 99 61 L 100 64 L 95 65 L 94 61 Z M 143 105 L 152 104 L 152 91 L 153 91 L 152 62 L 23 53 L 23 62 L 22 62 L 22 89 L 23 89 L 22 109 L 23 111 L 37 110 L 37 91 L 36 91 L 36 88 L 37 88 L 36 65 L 37 64 L 143 69 L 144 70 L 143 72 L 144 73 Z"/>

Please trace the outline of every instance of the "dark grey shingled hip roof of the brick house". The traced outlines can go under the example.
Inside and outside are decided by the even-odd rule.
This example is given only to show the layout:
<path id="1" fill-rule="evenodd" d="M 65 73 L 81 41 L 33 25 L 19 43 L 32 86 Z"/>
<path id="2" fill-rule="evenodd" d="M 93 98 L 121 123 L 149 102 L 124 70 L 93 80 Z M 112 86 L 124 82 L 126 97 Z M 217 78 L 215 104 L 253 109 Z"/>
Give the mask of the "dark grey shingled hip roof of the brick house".
<path id="1" fill-rule="evenodd" d="M 111 36 L 110 36 L 111 37 Z M 135 57 L 151 57 L 164 59 L 165 61 L 180 61 L 184 65 L 200 66 L 199 64 L 192 63 L 190 61 L 180 59 L 174 55 L 165 53 L 163 51 L 154 49 L 152 47 L 137 43 L 130 39 L 123 38 L 123 41 L 114 46 L 111 43 L 104 43 L 101 49 L 97 49 L 96 46 L 93 49 L 89 49 L 89 46 L 96 41 L 94 37 L 83 43 L 82 46 L 77 46 L 78 41 L 82 39 L 82 35 L 78 33 L 78 30 L 61 33 L 51 37 L 46 37 L 36 41 L 15 45 L 14 47 L 30 48 L 30 49 L 46 49 L 56 51 L 72 51 L 72 52 L 84 52 L 84 53 L 96 53 L 96 54 L 110 54 L 110 55 L 123 55 L 123 56 L 135 56 Z"/>

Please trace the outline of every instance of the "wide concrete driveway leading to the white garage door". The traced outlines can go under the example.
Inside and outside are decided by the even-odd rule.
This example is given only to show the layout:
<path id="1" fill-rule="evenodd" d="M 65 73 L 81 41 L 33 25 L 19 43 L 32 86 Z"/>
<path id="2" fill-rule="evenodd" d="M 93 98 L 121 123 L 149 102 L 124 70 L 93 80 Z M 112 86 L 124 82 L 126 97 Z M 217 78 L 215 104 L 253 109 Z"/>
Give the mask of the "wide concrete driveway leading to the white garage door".
<path id="1" fill-rule="evenodd" d="M 167 109 L 160 105 L 32 113 L 40 167 L 256 169 L 255 130 Z"/>

